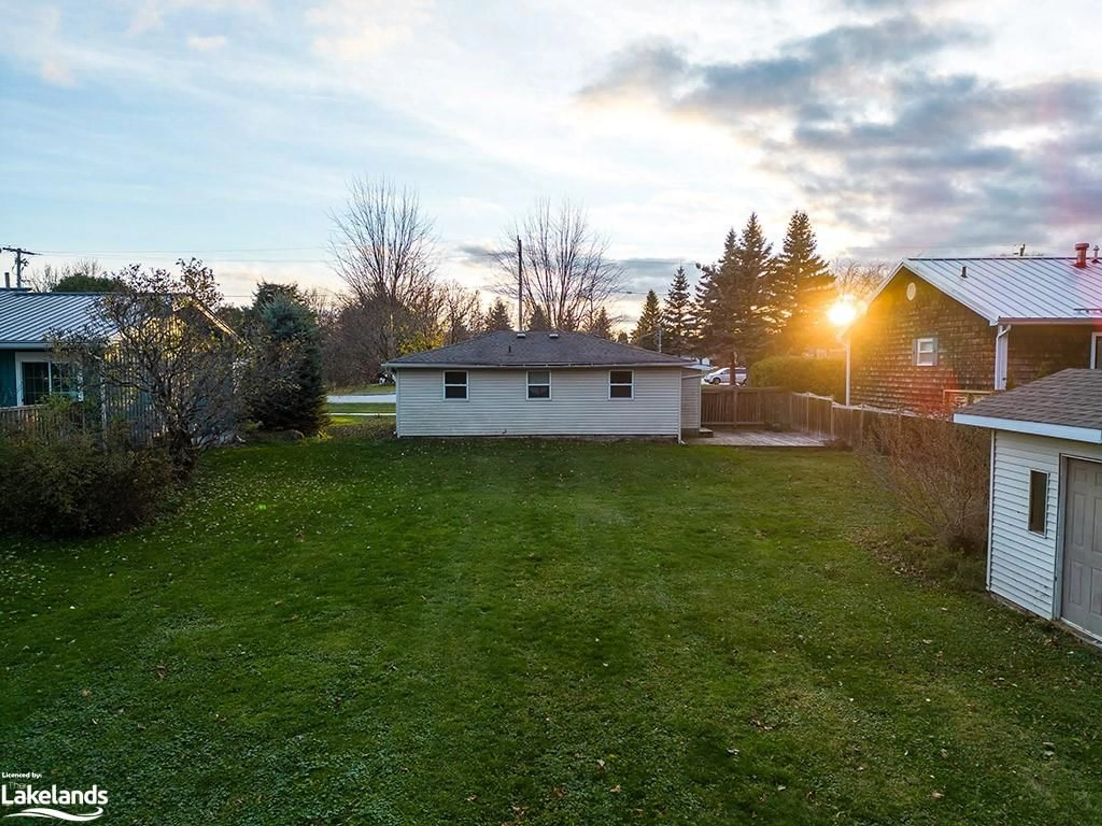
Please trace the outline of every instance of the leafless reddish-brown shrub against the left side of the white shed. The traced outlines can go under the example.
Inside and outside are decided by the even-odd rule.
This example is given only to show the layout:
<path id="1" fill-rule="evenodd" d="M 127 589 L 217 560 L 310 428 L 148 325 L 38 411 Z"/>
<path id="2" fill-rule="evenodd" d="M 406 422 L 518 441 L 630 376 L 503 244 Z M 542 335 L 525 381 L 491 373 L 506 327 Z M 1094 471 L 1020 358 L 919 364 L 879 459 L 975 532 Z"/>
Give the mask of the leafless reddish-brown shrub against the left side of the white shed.
<path id="1" fill-rule="evenodd" d="M 857 455 L 946 547 L 972 555 L 987 541 L 990 448 L 987 431 L 901 415 L 879 419 Z"/>

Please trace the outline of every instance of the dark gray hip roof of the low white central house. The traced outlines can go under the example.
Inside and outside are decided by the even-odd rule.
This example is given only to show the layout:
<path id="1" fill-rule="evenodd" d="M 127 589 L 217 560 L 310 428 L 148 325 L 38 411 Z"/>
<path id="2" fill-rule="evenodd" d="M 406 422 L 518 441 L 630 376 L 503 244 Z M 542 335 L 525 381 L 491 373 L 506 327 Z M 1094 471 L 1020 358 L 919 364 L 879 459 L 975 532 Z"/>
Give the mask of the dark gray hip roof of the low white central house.
<path id="1" fill-rule="evenodd" d="M 487 333 L 450 347 L 391 359 L 387 367 L 692 367 L 689 359 L 584 333 Z"/>

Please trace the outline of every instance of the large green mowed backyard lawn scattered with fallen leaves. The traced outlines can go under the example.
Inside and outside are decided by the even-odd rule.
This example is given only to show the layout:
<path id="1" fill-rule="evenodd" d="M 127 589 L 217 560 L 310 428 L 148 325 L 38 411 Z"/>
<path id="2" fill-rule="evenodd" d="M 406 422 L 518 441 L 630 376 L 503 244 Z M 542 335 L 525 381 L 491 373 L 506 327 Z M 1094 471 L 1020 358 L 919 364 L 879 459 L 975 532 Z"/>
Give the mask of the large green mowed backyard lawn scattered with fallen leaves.
<path id="1" fill-rule="evenodd" d="M 1102 822 L 1102 663 L 829 452 L 346 441 L 0 540 L 6 771 L 112 823 Z"/>

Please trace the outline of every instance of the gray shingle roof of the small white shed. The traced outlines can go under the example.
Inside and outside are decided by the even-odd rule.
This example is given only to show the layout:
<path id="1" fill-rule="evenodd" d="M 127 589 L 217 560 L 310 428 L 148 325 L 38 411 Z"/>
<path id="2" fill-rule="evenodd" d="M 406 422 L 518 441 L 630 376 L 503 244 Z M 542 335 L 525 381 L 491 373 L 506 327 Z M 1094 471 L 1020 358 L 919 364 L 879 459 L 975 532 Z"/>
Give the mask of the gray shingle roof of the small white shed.
<path id="1" fill-rule="evenodd" d="M 1061 370 L 1020 388 L 982 399 L 961 410 L 957 416 L 1102 431 L 1102 370 Z"/>

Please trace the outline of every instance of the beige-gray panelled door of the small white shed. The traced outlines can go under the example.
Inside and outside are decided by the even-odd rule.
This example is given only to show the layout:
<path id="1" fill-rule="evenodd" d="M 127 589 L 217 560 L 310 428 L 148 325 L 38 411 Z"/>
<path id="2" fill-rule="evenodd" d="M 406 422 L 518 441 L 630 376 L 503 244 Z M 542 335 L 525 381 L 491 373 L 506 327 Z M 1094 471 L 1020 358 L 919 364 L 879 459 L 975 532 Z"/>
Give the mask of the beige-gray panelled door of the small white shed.
<path id="1" fill-rule="evenodd" d="M 1102 637 L 1102 464 L 1068 461 L 1063 619 Z"/>

